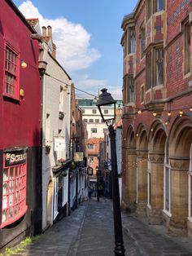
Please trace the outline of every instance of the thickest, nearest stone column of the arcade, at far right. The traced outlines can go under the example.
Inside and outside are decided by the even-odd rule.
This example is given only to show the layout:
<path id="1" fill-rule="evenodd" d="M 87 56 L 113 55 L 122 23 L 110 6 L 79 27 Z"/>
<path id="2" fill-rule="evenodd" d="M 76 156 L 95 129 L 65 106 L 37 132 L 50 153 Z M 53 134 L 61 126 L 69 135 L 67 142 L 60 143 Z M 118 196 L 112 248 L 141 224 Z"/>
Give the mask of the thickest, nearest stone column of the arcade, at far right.
<path id="1" fill-rule="evenodd" d="M 168 233 L 171 236 L 187 236 L 188 174 L 190 159 L 169 157 L 172 167 L 171 213 Z"/>

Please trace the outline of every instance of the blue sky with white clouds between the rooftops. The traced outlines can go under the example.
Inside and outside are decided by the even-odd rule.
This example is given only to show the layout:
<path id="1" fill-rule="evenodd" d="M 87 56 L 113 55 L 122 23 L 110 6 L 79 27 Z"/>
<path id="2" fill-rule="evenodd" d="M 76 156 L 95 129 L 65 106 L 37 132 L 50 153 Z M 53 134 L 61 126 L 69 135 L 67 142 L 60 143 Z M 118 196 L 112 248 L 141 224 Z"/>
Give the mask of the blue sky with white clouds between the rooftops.
<path id="1" fill-rule="evenodd" d="M 51 25 L 56 58 L 77 88 L 98 95 L 107 87 L 121 97 L 123 54 L 121 21 L 137 0 L 14 0 L 26 18 Z M 76 95 L 81 95 L 76 91 Z M 82 95 L 81 95 L 82 96 Z M 87 95 L 83 95 L 86 98 Z"/>

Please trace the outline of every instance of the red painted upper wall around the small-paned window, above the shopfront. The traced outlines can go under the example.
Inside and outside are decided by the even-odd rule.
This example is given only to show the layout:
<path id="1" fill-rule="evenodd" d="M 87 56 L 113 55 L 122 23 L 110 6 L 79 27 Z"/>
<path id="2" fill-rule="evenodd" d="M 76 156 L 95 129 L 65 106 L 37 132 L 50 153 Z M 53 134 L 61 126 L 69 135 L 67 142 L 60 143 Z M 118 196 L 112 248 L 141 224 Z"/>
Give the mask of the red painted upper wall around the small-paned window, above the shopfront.
<path id="1" fill-rule="evenodd" d="M 0 0 L 0 149 L 39 145 L 41 81 L 38 73 L 38 42 L 33 33 L 13 11 L 8 2 Z M 10 18 L 11 17 L 11 18 Z M 20 53 L 27 68 L 20 67 L 20 89 L 24 98 L 13 103 L 2 96 L 5 40 Z"/>

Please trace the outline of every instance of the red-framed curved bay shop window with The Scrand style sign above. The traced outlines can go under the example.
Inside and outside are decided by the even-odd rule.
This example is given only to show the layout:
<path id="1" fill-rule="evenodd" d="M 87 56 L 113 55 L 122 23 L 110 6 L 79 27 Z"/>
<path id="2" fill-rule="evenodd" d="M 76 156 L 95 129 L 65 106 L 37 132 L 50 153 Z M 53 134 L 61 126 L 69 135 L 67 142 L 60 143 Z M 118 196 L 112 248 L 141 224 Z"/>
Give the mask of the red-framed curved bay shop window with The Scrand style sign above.
<path id="1" fill-rule="evenodd" d="M 6 227 L 21 218 L 26 205 L 26 151 L 3 154 L 2 169 L 2 218 L 0 227 Z"/>

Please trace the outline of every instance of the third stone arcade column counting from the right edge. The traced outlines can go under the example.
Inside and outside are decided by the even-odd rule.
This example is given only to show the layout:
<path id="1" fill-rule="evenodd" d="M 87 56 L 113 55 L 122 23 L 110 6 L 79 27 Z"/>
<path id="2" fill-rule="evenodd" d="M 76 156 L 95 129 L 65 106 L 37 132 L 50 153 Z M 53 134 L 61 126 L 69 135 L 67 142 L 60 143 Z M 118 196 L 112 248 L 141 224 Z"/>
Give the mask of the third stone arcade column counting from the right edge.
<path id="1" fill-rule="evenodd" d="M 137 150 L 137 210 L 139 217 L 146 216 L 147 203 L 147 150 Z"/>

